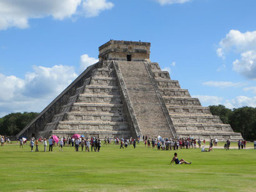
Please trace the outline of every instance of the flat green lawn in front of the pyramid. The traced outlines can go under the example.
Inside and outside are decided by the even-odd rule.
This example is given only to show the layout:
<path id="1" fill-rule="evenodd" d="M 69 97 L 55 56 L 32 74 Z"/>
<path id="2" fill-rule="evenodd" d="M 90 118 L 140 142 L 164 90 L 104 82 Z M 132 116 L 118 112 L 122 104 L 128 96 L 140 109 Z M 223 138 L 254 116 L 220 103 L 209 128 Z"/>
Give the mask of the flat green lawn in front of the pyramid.
<path id="1" fill-rule="evenodd" d="M 102 144 L 100 153 L 42 148 L 0 147 L 0 191 L 256 191 L 254 149 L 178 150 L 192 165 L 170 165 L 173 150 L 142 143 L 135 150 Z"/>

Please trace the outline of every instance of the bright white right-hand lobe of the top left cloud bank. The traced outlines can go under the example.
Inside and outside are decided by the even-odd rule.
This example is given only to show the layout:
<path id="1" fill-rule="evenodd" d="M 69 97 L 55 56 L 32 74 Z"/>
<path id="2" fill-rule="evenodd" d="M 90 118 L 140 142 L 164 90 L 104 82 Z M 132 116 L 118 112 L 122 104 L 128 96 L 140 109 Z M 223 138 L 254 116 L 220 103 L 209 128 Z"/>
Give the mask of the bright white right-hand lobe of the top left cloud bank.
<path id="1" fill-rule="evenodd" d="M 114 7 L 114 4 L 106 0 L 86 0 L 82 2 L 86 17 L 98 16 L 101 11 L 112 9 L 112 7 Z"/>

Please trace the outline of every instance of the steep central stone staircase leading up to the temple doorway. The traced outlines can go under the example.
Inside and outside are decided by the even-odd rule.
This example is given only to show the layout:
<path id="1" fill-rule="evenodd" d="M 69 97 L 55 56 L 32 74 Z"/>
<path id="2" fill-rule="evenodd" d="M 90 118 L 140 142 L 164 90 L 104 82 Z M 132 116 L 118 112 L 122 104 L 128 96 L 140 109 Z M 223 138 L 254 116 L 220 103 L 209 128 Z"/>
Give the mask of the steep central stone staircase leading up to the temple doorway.
<path id="1" fill-rule="evenodd" d="M 144 62 L 117 61 L 143 135 L 170 137 L 169 125 Z"/>

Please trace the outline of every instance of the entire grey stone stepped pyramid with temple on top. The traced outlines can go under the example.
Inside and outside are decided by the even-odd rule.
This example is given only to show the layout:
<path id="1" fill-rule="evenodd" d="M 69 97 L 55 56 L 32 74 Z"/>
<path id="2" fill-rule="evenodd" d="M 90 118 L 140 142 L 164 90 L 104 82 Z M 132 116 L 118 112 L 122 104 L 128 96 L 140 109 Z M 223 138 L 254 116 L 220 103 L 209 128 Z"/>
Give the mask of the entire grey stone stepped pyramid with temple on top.
<path id="1" fill-rule="evenodd" d="M 111 40 L 89 66 L 17 135 L 26 137 L 242 139 L 150 61 L 150 43 Z"/>

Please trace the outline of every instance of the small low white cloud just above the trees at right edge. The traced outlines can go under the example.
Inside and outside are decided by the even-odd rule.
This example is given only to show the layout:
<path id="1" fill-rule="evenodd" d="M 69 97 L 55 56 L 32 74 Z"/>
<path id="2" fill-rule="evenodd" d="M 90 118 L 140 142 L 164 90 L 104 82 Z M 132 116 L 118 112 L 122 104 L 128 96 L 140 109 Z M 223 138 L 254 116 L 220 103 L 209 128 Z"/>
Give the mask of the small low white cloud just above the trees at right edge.
<path id="1" fill-rule="evenodd" d="M 227 108 L 256 107 L 256 97 L 238 96 L 232 100 L 226 100 L 224 105 Z"/>

